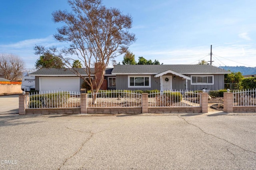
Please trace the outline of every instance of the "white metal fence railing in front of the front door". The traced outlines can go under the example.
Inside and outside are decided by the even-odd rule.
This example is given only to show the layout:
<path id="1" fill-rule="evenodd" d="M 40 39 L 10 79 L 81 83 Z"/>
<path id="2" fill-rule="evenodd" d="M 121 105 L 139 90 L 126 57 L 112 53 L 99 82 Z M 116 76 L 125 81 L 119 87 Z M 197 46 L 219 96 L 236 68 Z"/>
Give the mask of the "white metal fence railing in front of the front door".
<path id="1" fill-rule="evenodd" d="M 201 94 L 193 91 L 156 92 L 148 94 L 149 107 L 200 107 Z"/>

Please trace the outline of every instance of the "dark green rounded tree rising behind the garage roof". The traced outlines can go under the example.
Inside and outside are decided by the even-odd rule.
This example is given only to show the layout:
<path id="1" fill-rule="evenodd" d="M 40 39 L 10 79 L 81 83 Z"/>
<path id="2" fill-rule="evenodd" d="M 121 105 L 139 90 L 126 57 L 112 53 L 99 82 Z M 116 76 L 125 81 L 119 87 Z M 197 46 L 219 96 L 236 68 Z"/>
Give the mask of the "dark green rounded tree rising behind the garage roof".
<path id="1" fill-rule="evenodd" d="M 59 57 L 56 57 L 50 53 L 44 53 L 36 61 L 36 69 L 40 68 L 64 68 L 64 63 Z"/>

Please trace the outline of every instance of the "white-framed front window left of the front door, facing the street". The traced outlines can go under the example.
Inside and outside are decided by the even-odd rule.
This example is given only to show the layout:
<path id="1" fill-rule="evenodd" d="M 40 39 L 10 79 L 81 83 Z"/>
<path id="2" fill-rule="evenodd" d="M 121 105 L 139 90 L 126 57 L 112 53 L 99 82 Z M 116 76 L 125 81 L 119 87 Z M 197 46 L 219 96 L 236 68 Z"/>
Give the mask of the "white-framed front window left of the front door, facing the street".
<path id="1" fill-rule="evenodd" d="M 128 87 L 149 87 L 150 88 L 150 76 L 128 76 Z"/>

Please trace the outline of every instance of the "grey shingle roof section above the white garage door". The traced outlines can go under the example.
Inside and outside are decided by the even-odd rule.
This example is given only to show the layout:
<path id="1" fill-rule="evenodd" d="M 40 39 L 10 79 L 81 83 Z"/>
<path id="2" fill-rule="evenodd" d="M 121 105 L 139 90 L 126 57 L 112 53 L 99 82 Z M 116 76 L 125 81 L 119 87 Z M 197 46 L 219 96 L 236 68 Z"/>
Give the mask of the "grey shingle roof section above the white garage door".
<path id="1" fill-rule="evenodd" d="M 84 68 L 77 68 L 78 72 L 82 76 L 88 76 L 84 70 Z M 111 74 L 113 68 L 106 68 L 105 75 Z M 94 68 L 90 68 L 93 72 Z M 30 76 L 76 76 L 70 68 L 41 68 L 35 72 L 29 74 Z M 92 74 L 93 76 L 94 74 Z"/>

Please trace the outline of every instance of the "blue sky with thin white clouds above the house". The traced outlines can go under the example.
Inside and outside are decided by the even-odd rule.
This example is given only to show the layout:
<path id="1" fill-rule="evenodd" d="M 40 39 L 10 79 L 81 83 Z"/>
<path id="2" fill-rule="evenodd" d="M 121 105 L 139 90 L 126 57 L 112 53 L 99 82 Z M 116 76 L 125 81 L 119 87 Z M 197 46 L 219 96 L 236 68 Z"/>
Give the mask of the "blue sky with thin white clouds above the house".
<path id="1" fill-rule="evenodd" d="M 255 0 L 102 0 L 133 18 L 136 42 L 130 51 L 164 64 L 256 66 Z M 0 6 L 0 53 L 19 55 L 26 68 L 39 56 L 35 45 L 63 47 L 53 34 L 61 24 L 55 10 L 70 10 L 66 0 L 9 0 Z M 116 58 L 122 63 L 123 55 Z"/>

